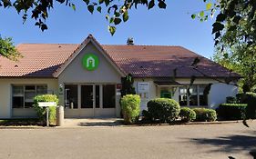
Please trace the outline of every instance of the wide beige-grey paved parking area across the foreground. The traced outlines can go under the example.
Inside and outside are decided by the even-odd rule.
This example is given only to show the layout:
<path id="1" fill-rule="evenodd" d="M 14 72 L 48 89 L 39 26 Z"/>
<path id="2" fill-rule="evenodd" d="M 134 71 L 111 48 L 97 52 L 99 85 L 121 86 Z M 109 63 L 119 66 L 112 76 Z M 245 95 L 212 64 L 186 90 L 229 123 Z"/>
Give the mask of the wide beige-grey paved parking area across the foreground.
<path id="1" fill-rule="evenodd" d="M 256 122 L 1 129 L 0 158 L 252 158 Z"/>

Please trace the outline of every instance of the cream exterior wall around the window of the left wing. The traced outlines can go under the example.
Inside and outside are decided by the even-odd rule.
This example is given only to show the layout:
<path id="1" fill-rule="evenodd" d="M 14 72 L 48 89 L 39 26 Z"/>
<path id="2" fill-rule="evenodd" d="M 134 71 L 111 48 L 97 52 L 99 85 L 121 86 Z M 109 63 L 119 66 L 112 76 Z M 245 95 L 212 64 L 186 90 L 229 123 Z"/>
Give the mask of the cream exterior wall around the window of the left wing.
<path id="1" fill-rule="evenodd" d="M 12 84 L 47 84 L 47 89 L 57 93 L 57 80 L 54 78 L 0 78 L 0 118 L 33 116 L 33 108 L 12 109 Z"/>

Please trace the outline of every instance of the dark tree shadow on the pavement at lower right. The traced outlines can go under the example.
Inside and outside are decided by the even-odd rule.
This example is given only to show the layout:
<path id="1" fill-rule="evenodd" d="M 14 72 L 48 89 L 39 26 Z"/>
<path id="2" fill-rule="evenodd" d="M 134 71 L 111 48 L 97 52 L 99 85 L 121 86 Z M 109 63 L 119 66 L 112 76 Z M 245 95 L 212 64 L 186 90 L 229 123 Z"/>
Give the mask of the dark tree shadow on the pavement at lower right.
<path id="1" fill-rule="evenodd" d="M 220 136 L 218 138 L 193 138 L 191 139 L 193 143 L 196 144 L 210 144 L 215 145 L 220 148 L 216 151 L 218 152 L 228 152 L 234 153 L 241 150 L 248 151 L 251 156 L 256 159 L 256 133 L 252 135 L 229 135 Z"/>

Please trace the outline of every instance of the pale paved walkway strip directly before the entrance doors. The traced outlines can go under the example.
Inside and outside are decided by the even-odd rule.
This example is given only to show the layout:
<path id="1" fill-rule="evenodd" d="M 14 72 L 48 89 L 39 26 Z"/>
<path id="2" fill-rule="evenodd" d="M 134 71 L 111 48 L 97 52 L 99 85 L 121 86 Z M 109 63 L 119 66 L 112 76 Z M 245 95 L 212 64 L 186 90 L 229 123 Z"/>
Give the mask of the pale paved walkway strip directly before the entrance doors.
<path id="1" fill-rule="evenodd" d="M 117 126 L 122 125 L 120 118 L 67 118 L 63 127 Z"/>

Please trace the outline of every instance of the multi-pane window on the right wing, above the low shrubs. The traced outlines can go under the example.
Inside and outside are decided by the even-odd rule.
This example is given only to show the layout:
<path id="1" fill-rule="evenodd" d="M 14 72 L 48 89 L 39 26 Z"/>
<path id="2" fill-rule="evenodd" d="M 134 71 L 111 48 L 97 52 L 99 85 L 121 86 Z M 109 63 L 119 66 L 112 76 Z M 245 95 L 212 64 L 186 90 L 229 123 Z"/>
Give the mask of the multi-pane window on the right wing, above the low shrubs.
<path id="1" fill-rule="evenodd" d="M 208 105 L 207 96 L 203 94 L 206 85 L 192 85 L 189 88 L 190 96 L 187 92 L 187 87 L 179 87 L 179 104 L 191 106 L 205 106 Z M 189 96 L 189 99 L 187 98 Z"/>

